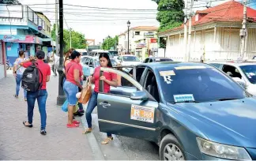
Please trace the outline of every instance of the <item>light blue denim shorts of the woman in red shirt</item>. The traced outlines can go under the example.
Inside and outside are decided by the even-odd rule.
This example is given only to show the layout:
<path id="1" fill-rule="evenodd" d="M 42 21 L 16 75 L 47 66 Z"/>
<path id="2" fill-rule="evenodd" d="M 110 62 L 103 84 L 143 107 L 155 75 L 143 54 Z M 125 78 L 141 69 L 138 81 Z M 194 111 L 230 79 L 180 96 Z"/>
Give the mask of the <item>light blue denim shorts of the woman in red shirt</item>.
<path id="1" fill-rule="evenodd" d="M 68 103 L 70 104 L 70 106 L 75 106 L 77 104 L 77 97 L 76 97 L 78 92 L 77 85 L 66 80 L 64 82 L 63 89 L 66 94 L 66 99 L 68 100 Z"/>

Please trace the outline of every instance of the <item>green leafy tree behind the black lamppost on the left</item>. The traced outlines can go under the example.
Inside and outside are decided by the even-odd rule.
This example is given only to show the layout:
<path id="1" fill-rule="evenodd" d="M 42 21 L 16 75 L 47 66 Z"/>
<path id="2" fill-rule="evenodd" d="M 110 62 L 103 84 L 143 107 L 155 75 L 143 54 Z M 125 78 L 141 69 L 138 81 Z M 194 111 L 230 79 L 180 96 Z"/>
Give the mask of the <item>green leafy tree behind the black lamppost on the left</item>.
<path id="1" fill-rule="evenodd" d="M 53 28 L 51 30 L 51 38 L 55 41 L 55 27 L 56 25 L 53 25 Z M 85 41 L 85 35 L 80 32 L 75 32 L 73 29 L 70 30 L 63 30 L 63 39 L 64 39 L 64 51 L 68 51 L 70 48 L 70 32 L 71 32 L 71 45 L 75 49 L 85 49 L 86 48 L 86 41 Z M 59 30 L 58 30 L 59 34 Z M 59 38 L 58 38 L 59 42 Z"/>

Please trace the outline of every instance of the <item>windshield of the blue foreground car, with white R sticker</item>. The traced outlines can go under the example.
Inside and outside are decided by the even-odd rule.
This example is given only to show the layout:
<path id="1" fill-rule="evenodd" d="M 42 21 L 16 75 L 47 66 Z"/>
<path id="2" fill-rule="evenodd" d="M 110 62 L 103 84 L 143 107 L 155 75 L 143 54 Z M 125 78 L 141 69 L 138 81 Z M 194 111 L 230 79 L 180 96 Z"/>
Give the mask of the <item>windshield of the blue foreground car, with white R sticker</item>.
<path id="1" fill-rule="evenodd" d="M 160 86 L 169 103 L 177 102 L 177 95 L 193 95 L 196 102 L 243 99 L 246 96 L 243 88 L 214 67 L 180 66 L 158 70 Z"/>

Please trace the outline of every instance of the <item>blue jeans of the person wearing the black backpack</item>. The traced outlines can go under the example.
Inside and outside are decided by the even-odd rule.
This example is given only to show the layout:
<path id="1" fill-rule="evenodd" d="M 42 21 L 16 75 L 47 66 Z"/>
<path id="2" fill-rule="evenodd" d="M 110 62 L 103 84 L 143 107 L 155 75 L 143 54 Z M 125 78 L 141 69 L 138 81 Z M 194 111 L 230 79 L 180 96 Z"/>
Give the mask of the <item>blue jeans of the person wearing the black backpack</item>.
<path id="1" fill-rule="evenodd" d="M 33 114 L 34 114 L 34 107 L 35 102 L 37 99 L 38 107 L 40 110 L 40 116 L 41 116 L 41 130 L 45 129 L 46 127 L 46 120 L 47 120 L 47 114 L 46 114 L 46 101 L 47 101 L 47 90 L 40 90 L 38 92 L 28 92 L 28 123 L 32 124 L 33 122 Z"/>

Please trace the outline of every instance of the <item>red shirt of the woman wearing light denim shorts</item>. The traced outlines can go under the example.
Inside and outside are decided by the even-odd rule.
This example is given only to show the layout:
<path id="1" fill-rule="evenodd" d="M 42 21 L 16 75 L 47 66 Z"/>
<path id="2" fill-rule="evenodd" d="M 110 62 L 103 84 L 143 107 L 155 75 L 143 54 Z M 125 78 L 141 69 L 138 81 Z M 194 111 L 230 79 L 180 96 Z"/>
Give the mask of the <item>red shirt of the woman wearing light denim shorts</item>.
<path id="1" fill-rule="evenodd" d="M 80 65 L 80 63 L 74 62 L 74 61 L 70 61 L 67 65 L 66 65 L 66 80 L 68 80 L 69 82 L 73 83 L 73 84 L 77 84 L 76 81 L 74 80 L 73 77 L 73 70 L 77 69 L 79 70 L 79 78 L 81 80 L 81 76 L 83 75 L 83 69 L 82 66 Z"/>

